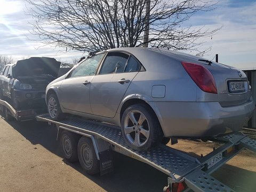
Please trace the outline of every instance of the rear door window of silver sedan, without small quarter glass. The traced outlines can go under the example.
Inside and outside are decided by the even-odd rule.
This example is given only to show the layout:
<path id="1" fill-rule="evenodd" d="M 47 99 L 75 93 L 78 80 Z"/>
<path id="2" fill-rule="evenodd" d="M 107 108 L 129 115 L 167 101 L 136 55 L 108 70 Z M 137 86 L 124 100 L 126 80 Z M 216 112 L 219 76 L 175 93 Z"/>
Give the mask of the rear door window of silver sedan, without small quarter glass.
<path id="1" fill-rule="evenodd" d="M 100 74 L 123 73 L 129 55 L 125 53 L 108 53 L 100 70 Z"/>

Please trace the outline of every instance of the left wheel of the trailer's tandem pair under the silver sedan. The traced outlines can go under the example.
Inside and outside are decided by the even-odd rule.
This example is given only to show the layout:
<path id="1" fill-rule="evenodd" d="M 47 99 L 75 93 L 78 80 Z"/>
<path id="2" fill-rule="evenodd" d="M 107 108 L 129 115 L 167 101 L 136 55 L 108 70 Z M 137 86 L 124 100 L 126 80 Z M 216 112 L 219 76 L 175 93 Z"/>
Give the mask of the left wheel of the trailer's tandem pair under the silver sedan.
<path id="1" fill-rule="evenodd" d="M 70 162 L 77 162 L 77 144 L 79 135 L 70 131 L 62 131 L 60 136 L 60 147 L 64 158 Z"/>

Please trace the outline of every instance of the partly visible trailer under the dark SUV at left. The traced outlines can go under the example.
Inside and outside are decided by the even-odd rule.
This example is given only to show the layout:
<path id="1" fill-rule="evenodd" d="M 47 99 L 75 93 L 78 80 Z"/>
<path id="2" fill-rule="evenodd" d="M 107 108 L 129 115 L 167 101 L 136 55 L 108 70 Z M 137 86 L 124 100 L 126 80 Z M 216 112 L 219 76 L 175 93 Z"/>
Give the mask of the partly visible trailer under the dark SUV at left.
<path id="1" fill-rule="evenodd" d="M 0 111 L 6 119 L 6 121 L 10 121 L 13 118 L 17 121 L 29 121 L 31 119 L 35 119 L 37 115 L 43 114 L 38 114 L 36 109 L 16 110 L 12 107 L 12 105 L 9 102 L 1 99 Z"/>

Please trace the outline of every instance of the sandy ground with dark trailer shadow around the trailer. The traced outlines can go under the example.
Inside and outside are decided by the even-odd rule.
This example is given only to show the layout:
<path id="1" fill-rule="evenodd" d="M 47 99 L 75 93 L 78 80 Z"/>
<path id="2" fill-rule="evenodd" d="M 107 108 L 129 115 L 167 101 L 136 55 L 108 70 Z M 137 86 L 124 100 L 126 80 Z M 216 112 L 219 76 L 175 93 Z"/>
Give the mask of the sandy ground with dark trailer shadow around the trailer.
<path id="1" fill-rule="evenodd" d="M 0 117 L 0 191 L 162 191 L 167 175 L 114 154 L 114 172 L 87 175 L 65 162 L 57 130 L 44 122 L 6 122 Z M 191 155 L 209 153 L 214 143 L 179 140 L 172 146 Z M 237 191 L 256 191 L 256 155 L 242 151 L 213 177 Z"/>

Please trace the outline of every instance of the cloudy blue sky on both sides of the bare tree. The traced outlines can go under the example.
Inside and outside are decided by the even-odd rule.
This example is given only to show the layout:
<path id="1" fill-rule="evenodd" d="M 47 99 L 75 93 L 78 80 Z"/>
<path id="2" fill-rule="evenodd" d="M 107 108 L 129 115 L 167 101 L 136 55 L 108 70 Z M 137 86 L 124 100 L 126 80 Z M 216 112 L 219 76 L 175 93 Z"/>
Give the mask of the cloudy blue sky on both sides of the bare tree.
<path id="1" fill-rule="evenodd" d="M 219 2 L 217 9 L 200 12 L 190 18 L 185 25 L 205 29 L 222 27 L 211 38 L 201 39 L 206 43 L 202 49 L 212 46 L 204 55 L 214 59 L 219 54 L 219 62 L 238 68 L 256 68 L 256 0 L 213 0 Z M 15 59 L 28 57 L 54 57 L 68 61 L 83 56 L 83 52 L 66 53 L 64 49 L 28 40 L 28 24 L 32 18 L 24 14 L 23 0 L 0 0 L 0 55 L 12 55 Z M 188 52 L 189 53 L 189 52 Z M 192 53 L 193 54 L 193 53 Z"/>

